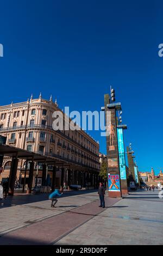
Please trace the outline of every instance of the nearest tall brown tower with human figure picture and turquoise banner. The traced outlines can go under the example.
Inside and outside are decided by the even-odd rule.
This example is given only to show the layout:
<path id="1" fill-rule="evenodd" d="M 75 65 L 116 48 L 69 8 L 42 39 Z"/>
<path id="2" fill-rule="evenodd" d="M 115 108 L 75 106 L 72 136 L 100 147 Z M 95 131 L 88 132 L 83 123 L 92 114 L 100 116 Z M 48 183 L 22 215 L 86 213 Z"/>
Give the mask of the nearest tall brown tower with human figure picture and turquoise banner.
<path id="1" fill-rule="evenodd" d="M 102 110 L 105 111 L 109 197 L 122 197 L 122 194 L 128 193 L 124 143 L 122 143 L 123 129 L 127 129 L 127 126 L 118 125 L 116 111 L 121 111 L 121 103 L 111 103 L 109 94 L 104 95 L 104 107 L 102 107 Z M 121 154 L 118 152 L 120 148 L 123 148 L 120 152 Z M 121 166 L 123 165 L 123 172 L 120 163 Z"/>

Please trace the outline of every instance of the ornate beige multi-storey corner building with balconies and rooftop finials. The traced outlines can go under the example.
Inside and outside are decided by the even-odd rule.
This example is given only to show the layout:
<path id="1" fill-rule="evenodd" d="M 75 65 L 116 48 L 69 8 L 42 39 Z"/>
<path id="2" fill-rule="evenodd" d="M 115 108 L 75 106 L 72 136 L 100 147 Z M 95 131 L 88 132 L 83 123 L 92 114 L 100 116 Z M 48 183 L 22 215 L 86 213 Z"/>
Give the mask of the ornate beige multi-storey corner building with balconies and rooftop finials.
<path id="1" fill-rule="evenodd" d="M 86 182 L 95 185 L 99 172 L 99 143 L 80 130 L 53 130 L 53 113 L 61 111 L 57 101 L 53 102 L 42 99 L 33 99 L 20 103 L 0 106 L 0 135 L 7 137 L 7 145 L 33 151 L 42 155 L 52 156 L 56 160 L 62 160 L 62 167 L 71 170 L 71 183 L 80 184 L 81 174 L 86 175 Z M 63 112 L 62 112 L 63 113 Z M 64 114 L 64 113 L 63 113 Z M 68 123 L 71 119 L 68 118 Z M 64 123 L 67 120 L 64 119 Z M 27 164 L 27 166 L 26 166 Z M 11 160 L 4 157 L 3 172 L 0 181 L 9 177 Z M 29 162 L 19 160 L 17 167 L 17 183 L 24 182 L 24 169 L 27 169 L 26 182 L 28 183 Z M 47 174 L 52 179 L 52 165 L 47 166 Z M 67 176 L 64 172 L 64 183 Z M 35 162 L 34 178 L 41 184 L 42 164 Z M 57 167 L 55 184 L 60 186 L 60 166 Z M 35 179 L 33 180 L 33 185 Z M 84 184 L 82 184 L 84 186 Z"/>

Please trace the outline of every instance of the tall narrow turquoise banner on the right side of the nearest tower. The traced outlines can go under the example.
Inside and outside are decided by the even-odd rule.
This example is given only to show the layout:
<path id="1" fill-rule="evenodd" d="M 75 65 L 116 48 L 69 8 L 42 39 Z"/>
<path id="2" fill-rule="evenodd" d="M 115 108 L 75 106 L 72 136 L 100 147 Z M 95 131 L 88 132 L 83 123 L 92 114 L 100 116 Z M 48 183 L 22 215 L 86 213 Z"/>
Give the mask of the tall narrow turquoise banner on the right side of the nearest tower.
<path id="1" fill-rule="evenodd" d="M 120 177 L 121 180 L 126 180 L 126 161 L 124 155 L 124 143 L 123 143 L 123 130 L 122 128 L 117 129 L 117 139 L 118 139 L 118 153 L 119 153 L 119 163 L 120 163 Z"/>

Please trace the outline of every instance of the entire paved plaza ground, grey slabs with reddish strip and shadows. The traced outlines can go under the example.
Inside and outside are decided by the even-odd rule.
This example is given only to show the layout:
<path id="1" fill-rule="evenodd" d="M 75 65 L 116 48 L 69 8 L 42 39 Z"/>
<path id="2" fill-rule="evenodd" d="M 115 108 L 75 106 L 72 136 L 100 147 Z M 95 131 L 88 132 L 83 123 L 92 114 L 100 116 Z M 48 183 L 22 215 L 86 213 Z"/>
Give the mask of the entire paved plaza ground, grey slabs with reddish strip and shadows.
<path id="1" fill-rule="evenodd" d="M 123 199 L 97 191 L 67 191 L 51 209 L 48 194 L 0 201 L 0 245 L 162 245 L 163 199 L 158 191 Z"/>

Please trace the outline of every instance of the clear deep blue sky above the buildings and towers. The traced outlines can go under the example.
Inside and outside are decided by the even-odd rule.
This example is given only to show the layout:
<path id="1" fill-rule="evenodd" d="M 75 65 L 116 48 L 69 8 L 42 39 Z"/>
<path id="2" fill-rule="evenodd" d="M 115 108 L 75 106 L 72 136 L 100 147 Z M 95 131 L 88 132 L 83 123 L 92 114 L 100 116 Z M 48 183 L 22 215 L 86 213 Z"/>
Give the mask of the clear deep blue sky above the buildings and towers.
<path id="1" fill-rule="evenodd" d="M 1 105 L 52 94 L 71 110 L 100 110 L 110 84 L 139 169 L 162 161 L 161 1 L 1 1 Z M 90 134 L 105 153 L 105 138 Z"/>

